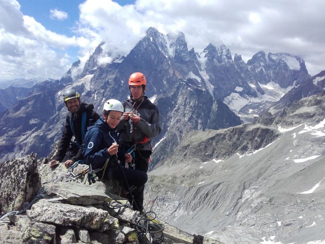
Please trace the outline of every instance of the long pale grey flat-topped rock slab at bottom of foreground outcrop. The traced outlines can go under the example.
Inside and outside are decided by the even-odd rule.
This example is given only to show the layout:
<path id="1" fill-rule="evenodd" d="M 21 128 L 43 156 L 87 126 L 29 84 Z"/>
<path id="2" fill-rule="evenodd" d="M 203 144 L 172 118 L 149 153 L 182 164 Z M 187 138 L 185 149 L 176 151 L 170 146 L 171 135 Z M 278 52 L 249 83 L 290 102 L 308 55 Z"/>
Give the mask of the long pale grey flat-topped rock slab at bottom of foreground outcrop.
<path id="1" fill-rule="evenodd" d="M 44 211 L 47 212 L 46 215 Z M 47 223 L 98 229 L 106 218 L 107 211 L 91 206 L 53 203 L 40 199 L 27 210 L 27 215 L 31 219 Z"/>

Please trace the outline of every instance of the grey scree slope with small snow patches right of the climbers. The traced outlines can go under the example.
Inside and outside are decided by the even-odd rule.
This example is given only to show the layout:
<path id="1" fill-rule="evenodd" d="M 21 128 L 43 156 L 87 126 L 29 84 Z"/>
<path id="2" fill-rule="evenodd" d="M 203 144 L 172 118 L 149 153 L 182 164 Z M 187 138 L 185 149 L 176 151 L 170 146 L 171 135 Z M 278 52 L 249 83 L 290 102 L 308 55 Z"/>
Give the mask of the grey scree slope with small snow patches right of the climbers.
<path id="1" fill-rule="evenodd" d="M 322 92 L 253 124 L 186 133 L 149 172 L 145 208 L 224 243 L 323 239 L 324 118 Z"/>

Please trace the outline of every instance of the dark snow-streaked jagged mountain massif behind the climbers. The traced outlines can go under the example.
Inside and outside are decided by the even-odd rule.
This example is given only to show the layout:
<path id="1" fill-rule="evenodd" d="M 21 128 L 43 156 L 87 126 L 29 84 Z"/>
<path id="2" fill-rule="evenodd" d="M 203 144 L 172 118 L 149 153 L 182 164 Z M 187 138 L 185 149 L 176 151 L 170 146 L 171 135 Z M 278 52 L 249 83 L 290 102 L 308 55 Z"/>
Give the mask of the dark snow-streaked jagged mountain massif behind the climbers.
<path id="1" fill-rule="evenodd" d="M 269 100 L 263 103 L 271 97 L 264 96 L 268 82 L 288 88 L 295 80 L 298 83 L 308 77 L 304 61 L 290 54 L 261 52 L 245 63 L 238 54 L 232 60 L 223 43 L 215 46 L 209 43 L 202 53 L 196 53 L 193 48 L 188 50 L 182 32 L 164 35 L 152 27 L 127 55 L 112 57 L 110 63 L 101 64 L 100 57 L 109 54 L 104 45 L 98 45 L 82 70 L 80 61 L 74 62 L 60 81 L 54 82 L 55 87 L 54 83 L 44 82 L 29 93 L 21 91 L 24 93 L 21 96 L 16 95 L 18 91 L 10 91 L 11 95 L 3 93 L 5 97 L 22 100 L 12 100 L 9 104 L 13 106 L 6 104 L 8 110 L 0 118 L 0 161 L 30 152 L 48 155 L 60 137 L 58 131 L 67 112 L 61 99 L 64 87 L 78 90 L 81 99 L 93 103 L 100 113 L 103 100 L 126 99 L 130 73 L 143 72 L 147 79 L 145 94 L 155 99 L 161 114 L 162 132 L 152 143 L 164 138 L 159 150 L 165 155 L 173 151 L 187 131 L 235 126 L 241 123 L 238 114 L 252 116 L 251 107 L 239 113 L 241 103 L 257 99 L 261 103 L 256 103 L 255 109 L 268 106 Z M 191 115 L 180 126 L 181 112 Z M 153 155 L 155 163 L 161 160 L 163 156 Z"/>

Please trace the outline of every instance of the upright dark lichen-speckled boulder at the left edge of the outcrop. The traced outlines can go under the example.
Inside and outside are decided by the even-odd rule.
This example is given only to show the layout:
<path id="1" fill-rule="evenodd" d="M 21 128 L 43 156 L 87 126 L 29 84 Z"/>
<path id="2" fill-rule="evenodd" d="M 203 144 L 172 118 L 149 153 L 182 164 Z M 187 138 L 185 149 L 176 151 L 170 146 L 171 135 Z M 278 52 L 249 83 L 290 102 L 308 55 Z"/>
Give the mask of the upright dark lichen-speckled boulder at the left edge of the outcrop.
<path id="1" fill-rule="evenodd" d="M 21 210 L 40 188 L 36 155 L 30 154 L 0 164 L 0 215 Z"/>

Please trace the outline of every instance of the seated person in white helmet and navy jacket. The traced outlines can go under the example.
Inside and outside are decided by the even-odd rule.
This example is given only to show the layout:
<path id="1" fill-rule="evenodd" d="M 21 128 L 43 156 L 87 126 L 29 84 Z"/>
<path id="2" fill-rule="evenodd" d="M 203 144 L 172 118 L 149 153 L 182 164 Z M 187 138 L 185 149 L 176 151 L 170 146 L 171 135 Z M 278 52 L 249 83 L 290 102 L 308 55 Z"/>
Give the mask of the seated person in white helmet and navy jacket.
<path id="1" fill-rule="evenodd" d="M 116 132 L 123 111 L 123 105 L 118 100 L 109 99 L 104 103 L 102 118 L 88 127 L 84 136 L 83 161 L 92 170 L 101 169 L 96 173 L 99 177 L 123 180 L 124 192 L 135 188 L 130 194 L 134 196 L 137 193 L 136 187 L 146 182 L 147 174 L 141 170 L 122 167 L 117 161 L 132 160 L 132 156 L 121 149 Z"/>

